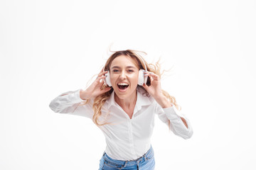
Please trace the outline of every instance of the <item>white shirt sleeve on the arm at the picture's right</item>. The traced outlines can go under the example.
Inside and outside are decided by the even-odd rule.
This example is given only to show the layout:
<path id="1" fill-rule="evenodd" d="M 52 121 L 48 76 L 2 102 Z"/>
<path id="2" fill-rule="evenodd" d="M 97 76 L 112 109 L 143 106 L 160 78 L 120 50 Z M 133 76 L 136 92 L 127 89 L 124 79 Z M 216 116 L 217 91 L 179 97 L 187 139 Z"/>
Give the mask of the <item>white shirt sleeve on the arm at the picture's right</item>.
<path id="1" fill-rule="evenodd" d="M 178 111 L 175 106 L 172 106 L 171 108 L 161 108 L 161 106 L 157 106 L 156 114 L 162 122 L 166 123 L 166 125 L 169 124 L 168 122 L 170 120 L 171 131 L 174 132 L 175 135 L 182 137 L 183 139 L 189 139 L 193 135 L 190 121 L 181 113 L 181 111 Z M 188 128 L 183 124 L 181 118 L 186 120 Z"/>

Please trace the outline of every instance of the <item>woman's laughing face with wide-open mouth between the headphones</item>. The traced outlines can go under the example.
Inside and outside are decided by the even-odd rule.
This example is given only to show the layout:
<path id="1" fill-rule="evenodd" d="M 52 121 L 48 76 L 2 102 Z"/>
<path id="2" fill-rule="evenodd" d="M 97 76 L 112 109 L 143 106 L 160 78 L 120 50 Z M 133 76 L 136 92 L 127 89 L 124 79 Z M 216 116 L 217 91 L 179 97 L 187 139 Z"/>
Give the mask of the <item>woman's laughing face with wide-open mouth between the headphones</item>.
<path id="1" fill-rule="evenodd" d="M 131 57 L 120 55 L 110 65 L 110 81 L 119 99 L 136 96 L 139 67 Z"/>

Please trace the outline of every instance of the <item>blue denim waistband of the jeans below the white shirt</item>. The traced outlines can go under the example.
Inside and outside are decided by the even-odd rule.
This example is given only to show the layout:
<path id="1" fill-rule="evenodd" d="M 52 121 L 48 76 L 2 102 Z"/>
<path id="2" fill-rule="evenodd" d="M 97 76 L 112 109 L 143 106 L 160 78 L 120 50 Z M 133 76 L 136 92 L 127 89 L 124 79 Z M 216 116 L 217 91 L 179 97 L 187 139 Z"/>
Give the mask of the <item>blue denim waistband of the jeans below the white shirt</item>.
<path id="1" fill-rule="evenodd" d="M 122 161 L 122 160 L 112 159 L 105 152 L 103 154 L 103 158 L 107 162 L 111 162 L 112 164 L 125 165 L 125 166 L 126 165 L 139 164 L 139 163 L 141 164 L 142 162 L 145 162 L 146 160 L 151 159 L 151 157 L 154 157 L 154 151 L 153 151 L 152 146 L 142 157 L 139 157 L 138 159 L 134 159 L 134 160 L 129 160 L 129 161 Z"/>

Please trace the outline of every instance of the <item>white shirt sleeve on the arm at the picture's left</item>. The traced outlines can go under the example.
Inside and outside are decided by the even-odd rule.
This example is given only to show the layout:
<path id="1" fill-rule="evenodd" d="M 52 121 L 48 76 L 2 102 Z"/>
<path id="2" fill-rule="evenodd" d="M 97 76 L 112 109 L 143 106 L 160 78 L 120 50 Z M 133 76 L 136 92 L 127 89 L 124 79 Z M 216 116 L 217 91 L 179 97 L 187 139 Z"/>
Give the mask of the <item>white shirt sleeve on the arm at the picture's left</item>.
<path id="1" fill-rule="evenodd" d="M 49 107 L 55 113 L 69 113 L 92 118 L 92 103 L 80 105 L 82 101 L 84 100 L 80 98 L 80 89 L 77 91 L 67 91 L 54 98 L 50 102 Z"/>

